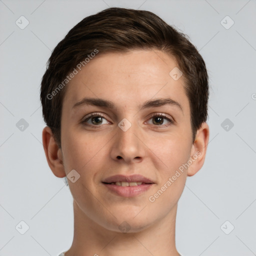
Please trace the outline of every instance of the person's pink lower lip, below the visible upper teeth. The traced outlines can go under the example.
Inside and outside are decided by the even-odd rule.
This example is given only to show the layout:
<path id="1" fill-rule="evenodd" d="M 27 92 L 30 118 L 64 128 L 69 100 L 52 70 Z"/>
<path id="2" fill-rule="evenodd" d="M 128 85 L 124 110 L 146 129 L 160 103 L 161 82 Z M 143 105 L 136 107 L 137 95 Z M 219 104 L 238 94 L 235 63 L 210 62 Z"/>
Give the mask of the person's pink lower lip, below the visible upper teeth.
<path id="1" fill-rule="evenodd" d="M 141 185 L 136 185 L 136 186 L 118 186 L 115 184 L 107 184 L 103 183 L 110 191 L 113 193 L 123 196 L 123 197 L 131 197 L 131 196 L 136 196 L 139 195 L 146 190 L 148 190 L 152 184 L 146 184 L 142 183 Z"/>

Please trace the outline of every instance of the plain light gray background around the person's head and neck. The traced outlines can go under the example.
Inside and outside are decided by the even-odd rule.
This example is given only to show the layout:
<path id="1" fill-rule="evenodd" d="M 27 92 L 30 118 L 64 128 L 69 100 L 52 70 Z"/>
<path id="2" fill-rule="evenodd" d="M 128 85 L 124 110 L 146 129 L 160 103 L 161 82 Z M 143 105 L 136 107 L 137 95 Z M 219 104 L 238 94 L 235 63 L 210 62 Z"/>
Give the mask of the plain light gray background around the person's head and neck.
<path id="1" fill-rule="evenodd" d="M 67 31 L 108 6 L 150 10 L 175 25 L 209 71 L 210 142 L 178 203 L 178 251 L 256 255 L 255 0 L 0 0 L 0 255 L 54 256 L 71 245 L 72 197 L 41 143 L 40 80 Z"/>

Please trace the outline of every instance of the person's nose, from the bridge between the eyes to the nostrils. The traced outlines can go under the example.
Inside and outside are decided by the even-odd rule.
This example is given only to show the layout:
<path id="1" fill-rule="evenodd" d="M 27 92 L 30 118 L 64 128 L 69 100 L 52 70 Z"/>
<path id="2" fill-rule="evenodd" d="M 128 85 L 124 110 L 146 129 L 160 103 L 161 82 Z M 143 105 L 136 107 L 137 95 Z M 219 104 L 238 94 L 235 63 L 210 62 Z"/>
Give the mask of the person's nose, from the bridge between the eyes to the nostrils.
<path id="1" fill-rule="evenodd" d="M 126 163 L 140 162 L 145 155 L 142 141 L 142 130 L 136 123 L 131 123 L 124 118 L 116 127 L 116 135 L 113 137 L 111 147 L 111 158 Z"/>

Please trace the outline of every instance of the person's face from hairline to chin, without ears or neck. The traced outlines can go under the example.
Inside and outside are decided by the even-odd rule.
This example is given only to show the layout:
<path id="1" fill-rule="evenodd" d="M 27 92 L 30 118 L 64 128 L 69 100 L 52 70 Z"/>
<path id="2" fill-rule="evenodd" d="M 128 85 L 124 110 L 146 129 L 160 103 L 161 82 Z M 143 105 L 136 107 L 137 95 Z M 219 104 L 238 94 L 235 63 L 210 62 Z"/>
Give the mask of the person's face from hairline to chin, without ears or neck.
<path id="1" fill-rule="evenodd" d="M 180 166 L 192 156 L 192 131 L 183 78 L 169 75 L 176 66 L 158 50 L 106 53 L 66 87 L 61 153 L 65 173 L 74 169 L 79 176 L 68 179 L 69 188 L 84 214 L 109 230 L 120 231 L 123 221 L 130 232 L 156 223 L 171 213 L 182 193 L 187 169 L 181 172 Z M 81 103 L 85 97 L 87 103 Z M 89 103 L 91 98 L 111 105 Z M 157 99 L 162 101 L 148 103 Z M 172 101 L 163 104 L 164 99 Z M 153 184 L 120 195 L 102 183 L 116 174 L 140 174 Z"/>

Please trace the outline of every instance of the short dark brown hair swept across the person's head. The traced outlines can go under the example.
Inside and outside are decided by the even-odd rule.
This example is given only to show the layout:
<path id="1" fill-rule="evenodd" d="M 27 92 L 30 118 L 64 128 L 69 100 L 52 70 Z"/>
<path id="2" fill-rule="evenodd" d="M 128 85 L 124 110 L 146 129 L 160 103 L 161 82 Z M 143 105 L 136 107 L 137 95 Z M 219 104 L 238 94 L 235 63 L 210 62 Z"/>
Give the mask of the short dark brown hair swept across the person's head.
<path id="1" fill-rule="evenodd" d="M 97 56 L 131 49 L 159 49 L 173 56 L 183 73 L 194 141 L 197 129 L 207 119 L 209 96 L 208 75 L 201 55 L 187 35 L 165 23 L 156 14 L 146 10 L 112 7 L 77 23 L 57 44 L 48 59 L 41 81 L 40 100 L 44 121 L 51 128 L 59 147 L 62 100 L 66 89 L 60 84 L 62 82 L 63 85 L 66 76 L 95 49 L 98 50 Z"/>

